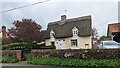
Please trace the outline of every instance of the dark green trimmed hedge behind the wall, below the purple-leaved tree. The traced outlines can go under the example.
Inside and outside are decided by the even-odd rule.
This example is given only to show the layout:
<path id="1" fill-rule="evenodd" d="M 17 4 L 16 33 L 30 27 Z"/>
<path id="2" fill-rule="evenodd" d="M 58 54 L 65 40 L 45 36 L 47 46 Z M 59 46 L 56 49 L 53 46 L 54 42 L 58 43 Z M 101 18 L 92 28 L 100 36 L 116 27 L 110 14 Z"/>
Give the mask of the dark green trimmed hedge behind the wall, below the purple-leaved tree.
<path id="1" fill-rule="evenodd" d="M 37 45 L 30 42 L 18 42 L 5 44 L 2 50 L 31 50 L 31 49 L 55 49 L 55 46 L 45 46 L 45 44 Z"/>

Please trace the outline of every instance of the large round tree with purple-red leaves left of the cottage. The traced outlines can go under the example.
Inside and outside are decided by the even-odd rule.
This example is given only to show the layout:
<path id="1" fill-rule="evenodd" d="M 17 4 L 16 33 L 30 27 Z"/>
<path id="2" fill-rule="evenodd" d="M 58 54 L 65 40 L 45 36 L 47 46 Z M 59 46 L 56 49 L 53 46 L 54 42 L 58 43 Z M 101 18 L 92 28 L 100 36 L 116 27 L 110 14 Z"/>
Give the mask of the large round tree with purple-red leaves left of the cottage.
<path id="1" fill-rule="evenodd" d="M 41 26 L 32 19 L 16 20 L 13 23 L 14 27 L 8 29 L 8 33 L 13 38 L 22 42 L 33 42 L 41 40 Z"/>

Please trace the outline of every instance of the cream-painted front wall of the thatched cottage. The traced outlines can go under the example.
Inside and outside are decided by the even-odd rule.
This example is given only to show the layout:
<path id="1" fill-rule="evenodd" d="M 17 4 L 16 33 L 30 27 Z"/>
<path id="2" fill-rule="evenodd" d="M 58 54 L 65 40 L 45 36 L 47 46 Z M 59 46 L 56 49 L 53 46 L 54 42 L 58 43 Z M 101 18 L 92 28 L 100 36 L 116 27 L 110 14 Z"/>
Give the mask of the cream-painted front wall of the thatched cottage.
<path id="1" fill-rule="evenodd" d="M 78 40 L 78 46 L 71 46 L 71 39 L 77 39 Z M 53 39 L 47 39 L 45 41 L 46 46 L 51 45 L 51 41 Z M 69 38 L 62 38 L 62 39 L 54 39 L 56 49 L 91 49 L 92 48 L 92 40 L 90 36 L 87 37 L 79 37 L 79 36 L 73 36 Z M 62 46 L 60 46 L 62 42 Z M 89 44 L 89 46 L 85 46 L 85 44 Z"/>

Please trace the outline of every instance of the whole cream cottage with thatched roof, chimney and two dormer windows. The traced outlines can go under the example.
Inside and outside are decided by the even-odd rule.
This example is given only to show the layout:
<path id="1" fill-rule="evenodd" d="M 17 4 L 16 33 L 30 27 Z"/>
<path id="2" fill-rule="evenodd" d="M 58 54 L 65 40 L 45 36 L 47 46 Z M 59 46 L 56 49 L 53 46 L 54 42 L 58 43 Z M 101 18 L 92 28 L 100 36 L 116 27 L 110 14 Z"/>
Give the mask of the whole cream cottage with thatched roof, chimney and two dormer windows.
<path id="1" fill-rule="evenodd" d="M 45 45 L 55 45 L 56 49 L 91 49 L 91 21 L 91 16 L 67 19 L 62 15 L 60 21 L 50 22 L 43 31 Z"/>

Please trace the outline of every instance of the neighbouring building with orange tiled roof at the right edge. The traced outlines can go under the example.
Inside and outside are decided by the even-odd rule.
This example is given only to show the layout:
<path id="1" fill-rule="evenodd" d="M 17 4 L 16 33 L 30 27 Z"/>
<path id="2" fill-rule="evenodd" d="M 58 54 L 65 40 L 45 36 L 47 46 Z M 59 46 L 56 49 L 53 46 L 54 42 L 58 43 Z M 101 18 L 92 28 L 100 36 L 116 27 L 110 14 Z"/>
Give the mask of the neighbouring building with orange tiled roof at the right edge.
<path id="1" fill-rule="evenodd" d="M 108 24 L 107 36 L 111 36 L 113 40 L 120 42 L 120 23 Z"/>

